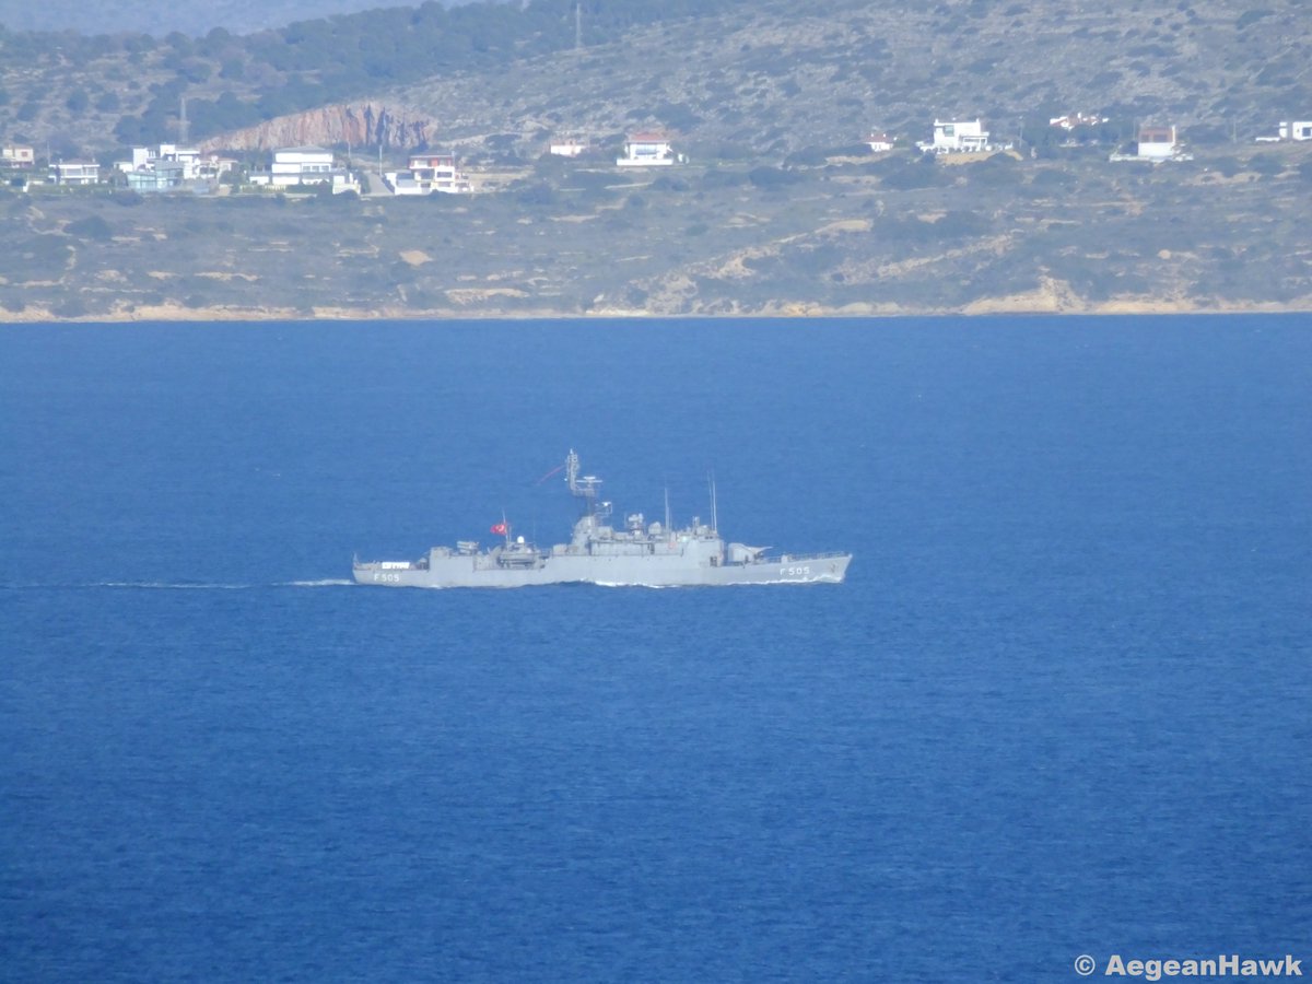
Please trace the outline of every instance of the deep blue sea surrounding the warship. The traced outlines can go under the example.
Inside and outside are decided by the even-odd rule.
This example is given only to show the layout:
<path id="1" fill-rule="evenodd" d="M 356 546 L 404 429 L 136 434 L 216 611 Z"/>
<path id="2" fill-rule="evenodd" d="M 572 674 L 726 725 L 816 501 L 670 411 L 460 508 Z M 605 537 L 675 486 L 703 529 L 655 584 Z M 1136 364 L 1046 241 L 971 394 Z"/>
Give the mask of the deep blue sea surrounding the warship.
<path id="1" fill-rule="evenodd" d="M 571 447 L 848 581 L 348 584 Z M 3 980 L 1312 960 L 1309 316 L 9 325 L 0 502 Z"/>

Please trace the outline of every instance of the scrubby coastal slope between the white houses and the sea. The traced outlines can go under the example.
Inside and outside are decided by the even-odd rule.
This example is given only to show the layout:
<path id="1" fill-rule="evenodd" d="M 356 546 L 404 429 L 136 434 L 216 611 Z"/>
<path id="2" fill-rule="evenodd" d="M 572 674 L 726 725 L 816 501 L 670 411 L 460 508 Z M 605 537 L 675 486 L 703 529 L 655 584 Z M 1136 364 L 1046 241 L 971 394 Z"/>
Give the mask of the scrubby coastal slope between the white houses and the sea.
<path id="1" fill-rule="evenodd" d="M 908 151 L 496 194 L 0 192 L 0 320 L 1312 310 L 1312 147 Z"/>

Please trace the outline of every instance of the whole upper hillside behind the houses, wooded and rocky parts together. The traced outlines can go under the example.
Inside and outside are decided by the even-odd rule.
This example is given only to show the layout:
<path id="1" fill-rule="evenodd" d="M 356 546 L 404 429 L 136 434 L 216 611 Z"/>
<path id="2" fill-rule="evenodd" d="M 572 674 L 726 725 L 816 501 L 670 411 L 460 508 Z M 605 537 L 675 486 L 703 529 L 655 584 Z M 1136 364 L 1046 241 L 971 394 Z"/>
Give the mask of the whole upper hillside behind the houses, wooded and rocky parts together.
<path id="1" fill-rule="evenodd" d="M 850 144 L 872 126 L 921 139 L 935 115 L 981 115 L 1014 136 L 1081 110 L 1127 127 L 1172 122 L 1195 144 L 1312 115 L 1305 0 L 583 8 L 581 51 L 567 0 L 371 10 L 249 38 L 0 31 L 0 139 L 66 155 L 173 140 L 184 96 L 192 136 L 210 146 L 256 146 L 252 130 L 338 142 L 352 127 L 324 106 L 367 102 L 425 121 L 384 129 L 384 143 L 495 138 L 491 150 L 526 157 L 562 129 L 614 136 L 644 123 L 702 157 L 769 157 Z"/>

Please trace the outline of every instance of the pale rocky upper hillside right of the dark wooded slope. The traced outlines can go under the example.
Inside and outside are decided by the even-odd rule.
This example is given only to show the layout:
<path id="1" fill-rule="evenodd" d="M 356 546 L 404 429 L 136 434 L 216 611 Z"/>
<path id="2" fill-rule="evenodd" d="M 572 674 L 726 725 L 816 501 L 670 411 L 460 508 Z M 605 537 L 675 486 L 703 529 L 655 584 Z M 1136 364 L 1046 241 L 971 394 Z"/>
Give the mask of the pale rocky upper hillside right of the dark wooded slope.
<path id="1" fill-rule="evenodd" d="M 870 127 L 928 139 L 935 117 L 984 117 L 1014 138 L 1071 112 L 1215 144 L 1312 118 L 1312 16 L 1304 0 L 758 3 L 396 94 L 443 139 L 513 134 L 529 156 L 562 129 L 657 123 L 701 159 L 774 160 Z"/>

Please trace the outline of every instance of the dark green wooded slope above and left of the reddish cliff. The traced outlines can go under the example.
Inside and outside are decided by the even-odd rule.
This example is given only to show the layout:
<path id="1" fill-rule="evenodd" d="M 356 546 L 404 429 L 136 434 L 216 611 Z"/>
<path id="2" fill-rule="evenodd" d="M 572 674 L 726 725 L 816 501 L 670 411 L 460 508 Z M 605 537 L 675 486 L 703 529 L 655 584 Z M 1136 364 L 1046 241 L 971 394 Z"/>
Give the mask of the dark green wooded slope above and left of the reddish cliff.
<path id="1" fill-rule="evenodd" d="M 585 38 L 706 17 L 743 0 L 594 0 Z M 203 139 L 289 113 L 458 72 L 504 77 L 506 66 L 571 47 L 573 0 L 472 4 L 436 0 L 245 37 L 31 33 L 0 28 L 0 133 L 63 154 L 173 140 L 181 98 Z"/>

